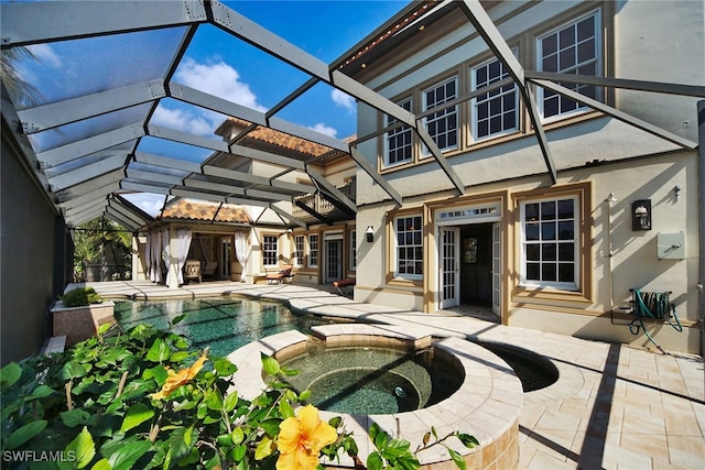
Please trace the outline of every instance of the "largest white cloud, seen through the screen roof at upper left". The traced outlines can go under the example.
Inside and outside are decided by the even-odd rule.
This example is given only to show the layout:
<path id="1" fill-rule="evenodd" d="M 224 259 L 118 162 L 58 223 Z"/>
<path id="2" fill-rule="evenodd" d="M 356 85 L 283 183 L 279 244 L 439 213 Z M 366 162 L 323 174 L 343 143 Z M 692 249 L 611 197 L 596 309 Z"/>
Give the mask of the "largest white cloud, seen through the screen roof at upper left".
<path id="1" fill-rule="evenodd" d="M 247 106 L 258 111 L 267 111 L 257 100 L 250 86 L 240 80 L 240 74 L 224 62 L 200 64 L 193 58 L 182 62 L 175 75 L 176 81 L 200 91 Z"/>

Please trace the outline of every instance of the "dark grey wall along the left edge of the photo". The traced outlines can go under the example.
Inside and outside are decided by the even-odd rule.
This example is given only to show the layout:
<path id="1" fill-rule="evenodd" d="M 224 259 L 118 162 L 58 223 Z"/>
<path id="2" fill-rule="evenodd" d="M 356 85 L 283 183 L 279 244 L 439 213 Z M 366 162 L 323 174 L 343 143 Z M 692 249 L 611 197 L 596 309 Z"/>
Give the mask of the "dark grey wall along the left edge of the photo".
<path id="1" fill-rule="evenodd" d="M 56 214 L 6 142 L 0 165 L 1 351 L 6 364 L 37 353 L 51 332 Z M 9 138 L 8 138 L 9 139 Z M 58 276 L 57 276 L 58 277 Z M 61 280 L 56 283 L 61 284 Z"/>

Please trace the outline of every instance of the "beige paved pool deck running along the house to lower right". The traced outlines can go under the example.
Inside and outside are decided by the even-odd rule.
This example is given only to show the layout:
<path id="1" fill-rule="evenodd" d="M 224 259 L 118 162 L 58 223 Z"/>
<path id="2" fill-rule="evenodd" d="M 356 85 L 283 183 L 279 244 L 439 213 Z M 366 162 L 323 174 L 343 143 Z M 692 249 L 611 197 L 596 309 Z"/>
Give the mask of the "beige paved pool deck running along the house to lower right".
<path id="1" fill-rule="evenodd" d="M 705 468 L 705 370 L 696 354 L 660 354 L 459 314 L 361 304 L 303 284 L 212 282 L 180 289 L 144 281 L 89 285 L 110 299 L 219 295 L 281 299 L 299 311 L 422 327 L 438 337 L 529 349 L 549 358 L 558 368 L 560 379 L 524 394 L 519 469 Z"/>

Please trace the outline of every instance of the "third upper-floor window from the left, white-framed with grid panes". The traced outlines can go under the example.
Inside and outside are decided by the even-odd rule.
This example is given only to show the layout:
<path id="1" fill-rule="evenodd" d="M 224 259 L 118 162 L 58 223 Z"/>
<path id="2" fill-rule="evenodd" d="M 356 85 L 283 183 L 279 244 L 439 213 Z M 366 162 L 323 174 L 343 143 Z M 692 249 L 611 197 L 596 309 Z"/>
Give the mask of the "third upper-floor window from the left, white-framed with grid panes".
<path id="1" fill-rule="evenodd" d="M 514 52 L 516 54 L 516 52 Z M 509 77 L 503 64 L 497 59 L 473 68 L 473 90 L 480 90 Z M 519 92 L 514 84 L 495 88 L 473 99 L 473 135 L 481 140 L 500 135 L 519 128 Z"/>

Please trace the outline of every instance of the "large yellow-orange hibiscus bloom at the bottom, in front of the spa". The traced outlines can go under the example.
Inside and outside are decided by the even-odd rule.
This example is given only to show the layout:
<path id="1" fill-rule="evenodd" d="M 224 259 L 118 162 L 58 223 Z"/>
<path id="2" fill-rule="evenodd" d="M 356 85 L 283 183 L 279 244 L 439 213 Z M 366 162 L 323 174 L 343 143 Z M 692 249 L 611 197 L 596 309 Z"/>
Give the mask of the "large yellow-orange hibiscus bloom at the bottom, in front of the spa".
<path id="1" fill-rule="evenodd" d="M 276 470 L 314 470 L 321 449 L 338 438 L 335 428 L 318 418 L 313 405 L 301 408 L 299 417 L 284 419 L 279 429 Z"/>

